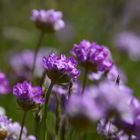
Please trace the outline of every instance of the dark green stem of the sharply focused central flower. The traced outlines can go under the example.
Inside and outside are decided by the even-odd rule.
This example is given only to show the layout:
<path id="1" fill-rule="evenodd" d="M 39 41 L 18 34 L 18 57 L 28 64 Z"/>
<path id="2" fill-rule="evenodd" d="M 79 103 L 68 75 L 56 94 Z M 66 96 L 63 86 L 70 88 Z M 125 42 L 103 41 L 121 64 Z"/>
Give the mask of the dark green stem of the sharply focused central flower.
<path id="1" fill-rule="evenodd" d="M 49 89 L 45 95 L 45 108 L 44 108 L 44 115 L 43 115 L 43 140 L 46 140 L 46 119 L 47 119 L 47 113 L 48 113 L 48 103 L 49 103 L 49 99 L 50 99 L 50 95 L 51 95 L 51 91 L 53 88 L 53 83 L 51 82 Z"/>

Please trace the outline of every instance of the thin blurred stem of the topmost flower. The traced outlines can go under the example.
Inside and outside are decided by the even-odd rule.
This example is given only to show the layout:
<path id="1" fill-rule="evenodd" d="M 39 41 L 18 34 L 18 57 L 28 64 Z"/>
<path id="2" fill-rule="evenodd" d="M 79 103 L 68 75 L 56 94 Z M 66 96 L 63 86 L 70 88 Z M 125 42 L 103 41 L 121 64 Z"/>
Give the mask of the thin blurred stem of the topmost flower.
<path id="1" fill-rule="evenodd" d="M 32 67 L 32 79 L 33 79 L 33 76 L 34 76 L 37 55 L 38 55 L 39 49 L 41 47 L 41 43 L 42 43 L 42 39 L 43 39 L 44 35 L 45 35 L 44 32 L 40 33 L 39 40 L 38 40 L 38 43 L 37 43 L 36 48 L 35 48 L 34 59 L 33 59 L 33 67 Z"/>

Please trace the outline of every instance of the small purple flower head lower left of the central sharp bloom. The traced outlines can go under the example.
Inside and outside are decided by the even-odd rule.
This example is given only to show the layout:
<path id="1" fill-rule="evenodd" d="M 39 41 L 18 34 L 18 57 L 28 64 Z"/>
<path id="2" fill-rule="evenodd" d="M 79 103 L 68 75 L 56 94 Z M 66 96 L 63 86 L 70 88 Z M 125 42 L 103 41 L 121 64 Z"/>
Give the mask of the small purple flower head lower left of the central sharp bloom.
<path id="1" fill-rule="evenodd" d="M 36 105 L 43 104 L 44 98 L 41 87 L 33 87 L 31 83 L 24 81 L 13 87 L 13 95 L 23 110 L 30 110 Z"/>

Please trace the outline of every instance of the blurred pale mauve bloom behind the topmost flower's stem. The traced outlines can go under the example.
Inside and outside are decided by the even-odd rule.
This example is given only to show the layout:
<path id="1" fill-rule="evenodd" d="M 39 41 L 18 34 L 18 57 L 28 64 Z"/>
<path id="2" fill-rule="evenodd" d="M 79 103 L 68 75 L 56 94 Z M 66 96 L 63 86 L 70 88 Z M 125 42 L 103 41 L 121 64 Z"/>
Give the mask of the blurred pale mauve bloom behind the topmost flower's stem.
<path id="1" fill-rule="evenodd" d="M 42 48 L 37 57 L 35 66 L 35 77 L 41 77 L 43 73 L 42 57 L 47 56 L 52 50 Z M 14 71 L 14 76 L 20 79 L 30 80 L 32 77 L 32 65 L 34 52 L 32 50 L 24 50 L 10 56 L 9 62 Z"/>

